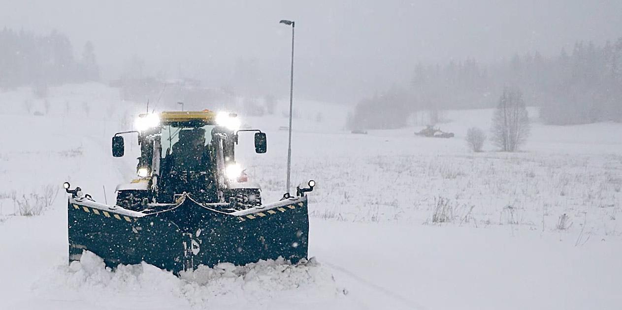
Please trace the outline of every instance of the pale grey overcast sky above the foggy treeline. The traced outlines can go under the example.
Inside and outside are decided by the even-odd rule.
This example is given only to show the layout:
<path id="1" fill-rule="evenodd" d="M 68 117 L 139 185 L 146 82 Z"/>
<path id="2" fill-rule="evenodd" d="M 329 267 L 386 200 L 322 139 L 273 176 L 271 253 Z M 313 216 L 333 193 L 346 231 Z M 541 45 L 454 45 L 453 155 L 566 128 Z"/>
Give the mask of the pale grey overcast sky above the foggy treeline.
<path id="1" fill-rule="evenodd" d="M 296 21 L 299 93 L 368 95 L 407 79 L 417 61 L 557 55 L 575 40 L 615 40 L 622 1 L 0 0 L 0 27 L 57 29 L 77 54 L 91 40 L 104 78 L 136 54 L 148 72 L 221 86 L 236 61 L 255 59 L 286 92 L 290 28 L 280 19 Z"/>

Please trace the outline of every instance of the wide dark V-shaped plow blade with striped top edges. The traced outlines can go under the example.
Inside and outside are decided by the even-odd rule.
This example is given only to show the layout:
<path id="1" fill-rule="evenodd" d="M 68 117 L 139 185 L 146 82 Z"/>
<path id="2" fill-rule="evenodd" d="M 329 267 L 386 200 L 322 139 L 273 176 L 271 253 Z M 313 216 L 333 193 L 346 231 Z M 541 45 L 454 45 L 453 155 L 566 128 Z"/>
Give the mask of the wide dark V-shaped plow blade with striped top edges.
<path id="1" fill-rule="evenodd" d="M 183 195 L 160 210 L 137 212 L 70 197 L 69 260 L 79 260 L 89 250 L 109 267 L 144 261 L 177 274 L 219 262 L 307 258 L 305 196 L 227 213 Z"/>

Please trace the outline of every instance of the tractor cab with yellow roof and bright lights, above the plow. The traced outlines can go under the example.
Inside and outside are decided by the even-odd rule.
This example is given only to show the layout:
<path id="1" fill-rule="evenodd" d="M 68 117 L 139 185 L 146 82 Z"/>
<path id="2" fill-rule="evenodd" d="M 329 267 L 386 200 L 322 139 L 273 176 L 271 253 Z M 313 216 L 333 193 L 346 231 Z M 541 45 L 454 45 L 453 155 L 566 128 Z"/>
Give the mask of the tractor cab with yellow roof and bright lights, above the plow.
<path id="1" fill-rule="evenodd" d="M 240 131 L 256 131 L 256 152 L 266 153 L 266 135 L 259 130 L 238 130 L 239 123 L 234 113 L 210 110 L 140 115 L 137 131 L 113 137 L 113 156 L 124 155 L 123 134 L 137 133 L 141 156 L 135 184 L 147 183 L 148 187 L 123 185 L 117 190 L 118 205 L 174 203 L 184 194 L 202 203 L 229 203 L 225 197 L 234 194 L 247 198 L 242 200 L 250 205 L 261 204 L 259 187 L 244 184 L 248 177 L 236 163 L 235 144 Z M 249 195 L 255 199 L 249 201 Z"/>

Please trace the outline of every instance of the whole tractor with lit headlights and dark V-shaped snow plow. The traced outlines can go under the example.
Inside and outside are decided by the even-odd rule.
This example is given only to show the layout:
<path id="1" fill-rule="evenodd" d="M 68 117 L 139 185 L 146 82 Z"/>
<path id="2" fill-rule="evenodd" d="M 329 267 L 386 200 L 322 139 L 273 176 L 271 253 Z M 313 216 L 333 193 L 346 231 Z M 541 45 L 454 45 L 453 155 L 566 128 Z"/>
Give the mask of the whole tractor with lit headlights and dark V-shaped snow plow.
<path id="1" fill-rule="evenodd" d="M 114 157 L 124 156 L 124 136 L 137 135 L 136 179 L 118 185 L 114 205 L 65 182 L 69 262 L 88 250 L 107 267 L 146 262 L 179 275 L 221 262 L 307 259 L 307 192 L 315 181 L 264 203 L 235 146 L 251 131 L 256 153 L 266 153 L 266 134 L 239 125 L 234 113 L 176 111 L 141 114 L 137 130 L 116 133 Z"/>

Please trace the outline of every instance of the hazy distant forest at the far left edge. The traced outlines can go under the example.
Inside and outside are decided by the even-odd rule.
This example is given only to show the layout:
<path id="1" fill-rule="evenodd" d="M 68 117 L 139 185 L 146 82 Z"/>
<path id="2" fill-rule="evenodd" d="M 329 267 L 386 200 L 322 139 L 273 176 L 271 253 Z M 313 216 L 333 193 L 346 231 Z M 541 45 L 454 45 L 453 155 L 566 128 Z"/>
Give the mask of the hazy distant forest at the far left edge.
<path id="1" fill-rule="evenodd" d="M 44 91 L 47 86 L 99 79 L 91 42 L 86 42 L 76 59 L 72 43 L 63 33 L 35 35 L 6 27 L 0 31 L 0 89 L 33 86 Z"/>

